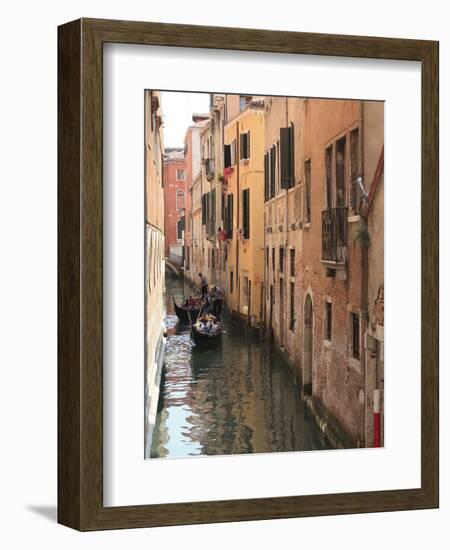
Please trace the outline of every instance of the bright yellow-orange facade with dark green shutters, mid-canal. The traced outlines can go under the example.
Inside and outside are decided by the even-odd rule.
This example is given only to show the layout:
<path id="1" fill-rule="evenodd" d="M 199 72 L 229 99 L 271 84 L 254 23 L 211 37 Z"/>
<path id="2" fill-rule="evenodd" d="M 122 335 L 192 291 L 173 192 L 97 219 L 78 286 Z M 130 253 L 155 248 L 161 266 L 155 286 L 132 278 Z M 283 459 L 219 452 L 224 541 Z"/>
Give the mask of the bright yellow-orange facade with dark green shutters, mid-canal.
<path id="1" fill-rule="evenodd" d="M 231 105 L 241 101 L 233 96 Z M 227 297 L 233 316 L 262 328 L 264 291 L 264 101 L 245 98 L 224 128 L 223 230 Z M 233 111 L 231 111 L 233 113 Z"/>

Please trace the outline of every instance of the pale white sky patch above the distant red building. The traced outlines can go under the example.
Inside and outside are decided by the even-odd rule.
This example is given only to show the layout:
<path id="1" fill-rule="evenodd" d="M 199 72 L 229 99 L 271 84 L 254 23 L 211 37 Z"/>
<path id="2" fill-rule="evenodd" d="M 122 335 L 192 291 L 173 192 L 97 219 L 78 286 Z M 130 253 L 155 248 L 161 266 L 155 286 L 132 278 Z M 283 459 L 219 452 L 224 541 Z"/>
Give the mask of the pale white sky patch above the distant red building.
<path id="1" fill-rule="evenodd" d="M 161 92 L 164 147 L 183 147 L 192 113 L 209 112 L 209 94 Z"/>

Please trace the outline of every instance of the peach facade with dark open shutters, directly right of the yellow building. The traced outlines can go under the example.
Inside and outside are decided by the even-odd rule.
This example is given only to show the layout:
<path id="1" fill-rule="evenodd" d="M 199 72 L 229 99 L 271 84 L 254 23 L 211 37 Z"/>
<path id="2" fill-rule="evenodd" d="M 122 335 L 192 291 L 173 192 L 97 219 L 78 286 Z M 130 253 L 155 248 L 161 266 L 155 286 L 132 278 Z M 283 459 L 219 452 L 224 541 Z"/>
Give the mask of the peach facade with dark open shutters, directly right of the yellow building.
<path id="1" fill-rule="evenodd" d="M 303 109 L 299 98 L 265 98 L 264 225 L 266 334 L 301 363 Z"/>

